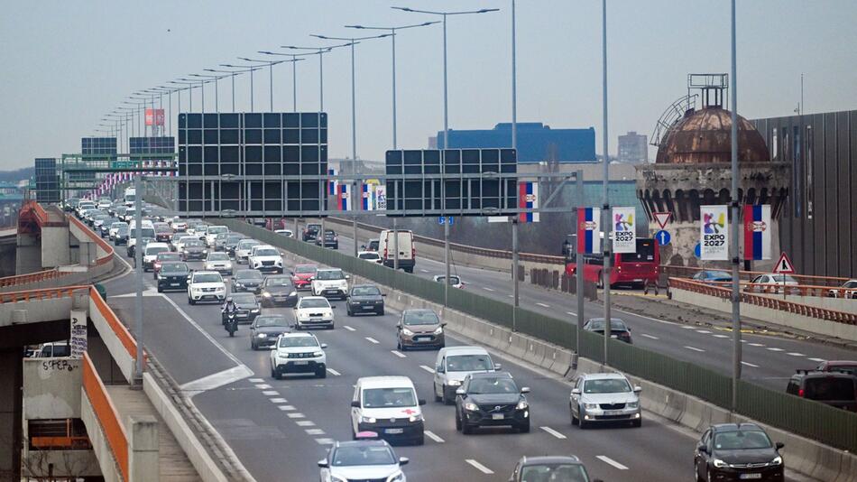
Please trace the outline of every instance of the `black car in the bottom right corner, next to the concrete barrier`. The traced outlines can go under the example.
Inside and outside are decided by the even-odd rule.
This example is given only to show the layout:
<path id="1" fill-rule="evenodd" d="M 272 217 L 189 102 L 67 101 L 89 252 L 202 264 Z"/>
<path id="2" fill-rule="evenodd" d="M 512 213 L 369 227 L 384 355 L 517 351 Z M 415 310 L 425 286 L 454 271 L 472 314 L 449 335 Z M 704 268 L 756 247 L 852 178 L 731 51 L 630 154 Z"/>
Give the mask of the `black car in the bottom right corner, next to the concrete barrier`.
<path id="1" fill-rule="evenodd" d="M 755 423 L 712 425 L 694 453 L 697 482 L 761 480 L 782 482 L 780 442 L 772 443 Z"/>

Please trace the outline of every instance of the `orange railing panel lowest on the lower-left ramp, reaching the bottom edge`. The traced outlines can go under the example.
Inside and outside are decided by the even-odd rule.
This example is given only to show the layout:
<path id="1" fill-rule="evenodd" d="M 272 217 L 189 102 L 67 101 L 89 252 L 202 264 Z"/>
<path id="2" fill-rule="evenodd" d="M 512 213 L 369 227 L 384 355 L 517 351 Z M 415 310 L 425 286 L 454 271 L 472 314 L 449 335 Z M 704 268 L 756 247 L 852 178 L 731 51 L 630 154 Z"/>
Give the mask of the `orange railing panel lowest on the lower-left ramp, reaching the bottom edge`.
<path id="1" fill-rule="evenodd" d="M 92 365 L 92 360 L 86 353 L 83 355 L 83 390 L 101 424 L 107 445 L 110 446 L 119 465 L 119 475 L 123 480 L 128 480 L 128 434 L 125 433 L 124 426 L 119 420 L 119 412 L 116 412 L 113 402 L 110 401 L 110 395 L 107 394 L 95 366 Z"/>

